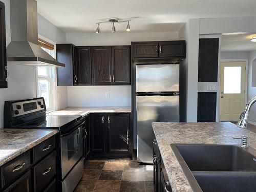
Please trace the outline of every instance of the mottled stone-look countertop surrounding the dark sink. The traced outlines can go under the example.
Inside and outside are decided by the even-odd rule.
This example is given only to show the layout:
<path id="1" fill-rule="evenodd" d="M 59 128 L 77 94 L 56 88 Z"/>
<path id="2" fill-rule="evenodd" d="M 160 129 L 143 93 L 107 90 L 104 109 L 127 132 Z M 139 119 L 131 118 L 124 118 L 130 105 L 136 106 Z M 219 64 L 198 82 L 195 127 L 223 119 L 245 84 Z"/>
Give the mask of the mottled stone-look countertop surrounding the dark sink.
<path id="1" fill-rule="evenodd" d="M 246 135 L 248 145 L 256 148 L 256 133 L 241 129 L 230 122 L 171 123 L 153 122 L 153 130 L 163 159 L 164 167 L 174 192 L 193 191 L 175 157 L 172 143 L 235 144 L 241 140 L 232 137 Z"/>

